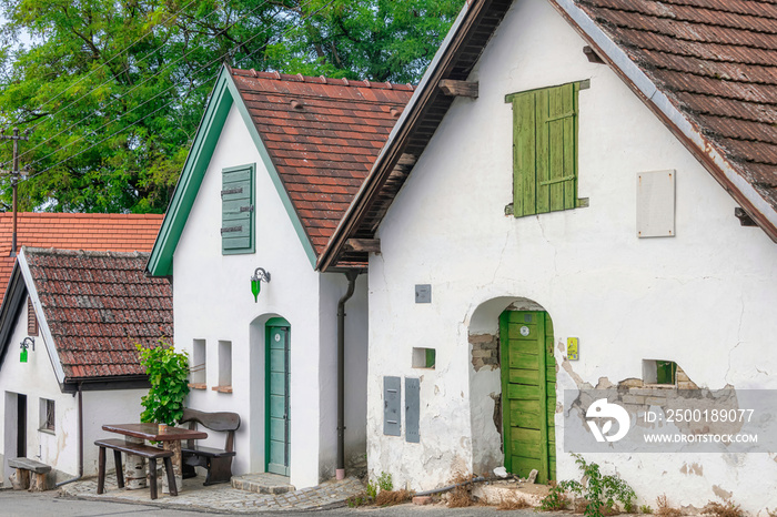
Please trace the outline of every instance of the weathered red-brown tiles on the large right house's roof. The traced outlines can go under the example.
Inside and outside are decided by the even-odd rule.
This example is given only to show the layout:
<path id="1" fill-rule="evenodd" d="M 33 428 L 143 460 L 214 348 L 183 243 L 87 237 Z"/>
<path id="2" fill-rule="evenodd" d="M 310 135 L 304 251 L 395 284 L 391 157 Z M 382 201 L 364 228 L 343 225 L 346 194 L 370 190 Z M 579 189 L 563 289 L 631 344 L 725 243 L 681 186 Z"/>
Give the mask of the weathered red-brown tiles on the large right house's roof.
<path id="1" fill-rule="evenodd" d="M 576 3 L 777 210 L 777 3 Z"/>

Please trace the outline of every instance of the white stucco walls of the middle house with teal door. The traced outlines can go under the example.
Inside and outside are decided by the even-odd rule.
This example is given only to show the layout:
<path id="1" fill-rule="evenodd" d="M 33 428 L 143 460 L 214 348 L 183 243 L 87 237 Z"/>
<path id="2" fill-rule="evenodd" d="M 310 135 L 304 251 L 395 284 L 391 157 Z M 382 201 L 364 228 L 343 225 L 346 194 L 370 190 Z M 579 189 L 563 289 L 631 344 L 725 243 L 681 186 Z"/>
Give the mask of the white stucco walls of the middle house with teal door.
<path id="1" fill-rule="evenodd" d="M 221 171 L 246 164 L 256 168 L 255 253 L 222 255 Z M 250 278 L 260 266 L 272 276 L 254 303 Z M 233 474 L 265 470 L 264 325 L 282 317 L 291 327 L 291 483 L 303 488 L 334 475 L 336 308 L 347 281 L 342 274 L 314 271 L 235 105 L 175 249 L 173 275 L 175 347 L 189 352 L 190 358 L 195 341 L 205 347 L 205 388 L 193 389 L 188 405 L 241 416 Z M 366 442 L 365 276 L 359 278 L 346 313 L 347 460 L 363 457 Z M 232 393 L 212 389 L 220 384 L 220 343 L 231 346 Z M 213 433 L 206 443 L 222 447 L 223 440 L 223 434 Z"/>

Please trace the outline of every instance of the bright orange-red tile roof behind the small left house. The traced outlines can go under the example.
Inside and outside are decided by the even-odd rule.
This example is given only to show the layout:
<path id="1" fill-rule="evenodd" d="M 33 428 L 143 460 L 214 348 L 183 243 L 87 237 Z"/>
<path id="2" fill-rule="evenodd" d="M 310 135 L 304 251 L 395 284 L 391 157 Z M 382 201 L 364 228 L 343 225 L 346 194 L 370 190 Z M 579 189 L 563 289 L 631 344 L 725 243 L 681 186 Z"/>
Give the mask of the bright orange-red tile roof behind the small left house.
<path id="1" fill-rule="evenodd" d="M 149 252 L 164 215 L 157 214 L 17 214 L 17 246 L 114 252 Z M 0 213 L 0 301 L 6 295 L 16 257 L 11 252 L 13 215 Z M 18 250 L 17 250 L 18 251 Z"/>

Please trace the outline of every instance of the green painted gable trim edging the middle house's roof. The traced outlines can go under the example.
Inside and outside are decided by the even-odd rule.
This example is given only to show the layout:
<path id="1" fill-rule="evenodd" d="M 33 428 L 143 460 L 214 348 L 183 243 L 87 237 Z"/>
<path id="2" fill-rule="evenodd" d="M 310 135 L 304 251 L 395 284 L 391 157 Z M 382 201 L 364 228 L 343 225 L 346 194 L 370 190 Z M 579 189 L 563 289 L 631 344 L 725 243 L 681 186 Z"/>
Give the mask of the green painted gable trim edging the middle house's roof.
<path id="1" fill-rule="evenodd" d="M 200 128 L 198 129 L 196 135 L 194 136 L 194 142 L 189 151 L 186 161 L 183 164 L 183 170 L 181 171 L 181 176 L 175 185 L 175 191 L 173 192 L 173 197 L 170 201 L 168 211 L 162 221 L 162 226 L 160 227 L 159 235 L 157 235 L 157 241 L 154 242 L 154 247 L 151 251 L 151 256 L 149 257 L 149 263 L 145 265 L 145 270 L 151 276 L 172 276 L 173 274 L 173 255 L 178 243 L 183 233 L 183 227 L 189 220 L 189 214 L 194 205 L 194 200 L 202 185 L 202 180 L 205 176 L 208 166 L 210 165 L 211 159 L 213 158 L 213 151 L 219 143 L 221 138 L 221 132 L 224 128 L 224 122 L 226 121 L 226 115 L 230 113 L 232 104 L 235 104 L 238 111 L 240 112 L 243 122 L 245 122 L 249 129 L 249 134 L 256 145 L 259 154 L 262 156 L 262 161 L 272 179 L 275 190 L 283 206 L 286 209 L 286 213 L 296 231 L 302 247 L 305 250 L 305 254 L 311 262 L 311 265 L 315 267 L 316 255 L 313 250 L 313 245 L 307 237 L 300 217 L 291 203 L 291 199 L 286 193 L 283 182 L 275 170 L 275 166 L 270 159 L 262 139 L 256 131 L 256 126 L 251 119 L 248 108 L 245 107 L 243 99 L 240 97 L 238 87 L 232 80 L 230 70 L 226 67 L 221 69 L 219 78 L 216 79 L 215 87 L 213 87 L 213 92 L 211 93 L 211 99 L 205 108 L 205 113 L 200 122 Z"/>

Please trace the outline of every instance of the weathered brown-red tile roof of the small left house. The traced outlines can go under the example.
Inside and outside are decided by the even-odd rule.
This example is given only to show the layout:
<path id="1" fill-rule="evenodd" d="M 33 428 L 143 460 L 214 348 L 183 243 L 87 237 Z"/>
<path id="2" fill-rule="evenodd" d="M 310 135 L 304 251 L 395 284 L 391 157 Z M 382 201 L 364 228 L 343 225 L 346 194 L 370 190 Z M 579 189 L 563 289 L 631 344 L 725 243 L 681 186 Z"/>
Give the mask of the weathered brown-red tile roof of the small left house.
<path id="1" fill-rule="evenodd" d="M 172 288 L 148 253 L 23 249 L 65 379 L 142 375 L 135 344 L 173 335 Z"/>

